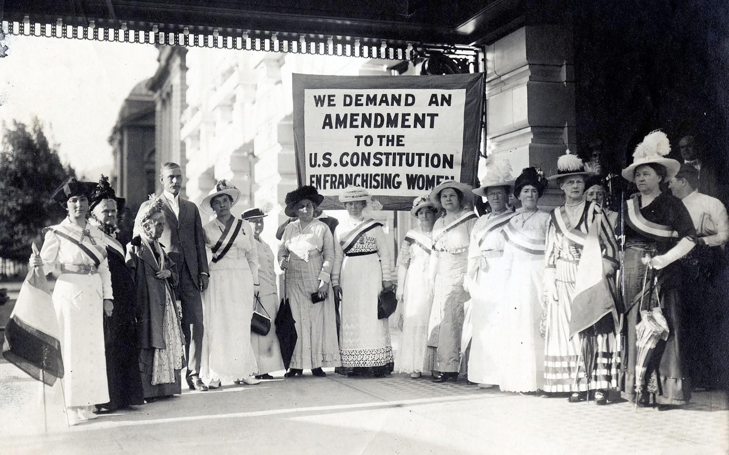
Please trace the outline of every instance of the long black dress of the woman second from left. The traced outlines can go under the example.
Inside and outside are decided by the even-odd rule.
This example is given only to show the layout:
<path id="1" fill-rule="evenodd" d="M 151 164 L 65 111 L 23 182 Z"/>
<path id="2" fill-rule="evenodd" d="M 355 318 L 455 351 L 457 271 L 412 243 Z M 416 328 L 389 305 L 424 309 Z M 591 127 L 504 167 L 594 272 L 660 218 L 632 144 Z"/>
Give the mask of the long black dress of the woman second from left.
<path id="1" fill-rule="evenodd" d="M 115 240 L 107 241 L 116 242 Z M 114 248 L 116 247 L 116 248 Z M 109 410 L 128 405 L 144 404 L 144 393 L 139 376 L 139 349 L 136 333 L 136 290 L 119 243 L 107 246 L 109 272 L 112 274 L 114 311 L 104 316 L 104 344 L 106 346 L 106 377 L 109 380 Z"/>

